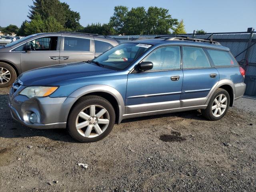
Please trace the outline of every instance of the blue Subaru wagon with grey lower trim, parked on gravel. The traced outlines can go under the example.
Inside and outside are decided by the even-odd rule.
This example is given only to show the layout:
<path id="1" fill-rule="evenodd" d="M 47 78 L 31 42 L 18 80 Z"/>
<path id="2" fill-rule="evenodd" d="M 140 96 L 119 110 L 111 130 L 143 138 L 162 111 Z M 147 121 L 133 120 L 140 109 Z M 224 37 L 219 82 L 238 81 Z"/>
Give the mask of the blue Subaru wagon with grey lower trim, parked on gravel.
<path id="1" fill-rule="evenodd" d="M 90 62 L 25 72 L 9 106 L 26 126 L 67 128 L 94 142 L 126 118 L 201 109 L 219 120 L 243 96 L 244 75 L 218 42 L 161 36 L 120 44 Z"/>

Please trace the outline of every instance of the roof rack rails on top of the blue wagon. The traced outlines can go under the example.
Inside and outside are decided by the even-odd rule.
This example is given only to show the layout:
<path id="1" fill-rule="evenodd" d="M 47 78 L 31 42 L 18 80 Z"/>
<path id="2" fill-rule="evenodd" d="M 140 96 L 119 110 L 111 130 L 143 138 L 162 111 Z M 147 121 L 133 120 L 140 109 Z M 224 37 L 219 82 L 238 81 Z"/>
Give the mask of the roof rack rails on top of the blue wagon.
<path id="1" fill-rule="evenodd" d="M 176 35 L 165 35 L 165 36 L 158 36 L 155 38 L 164 38 L 165 41 L 186 40 L 186 41 L 203 42 L 203 43 L 220 45 L 219 42 L 213 41 L 212 38 L 210 40 L 209 39 L 196 39 L 196 38 L 189 38 L 188 36 L 176 36 Z"/>

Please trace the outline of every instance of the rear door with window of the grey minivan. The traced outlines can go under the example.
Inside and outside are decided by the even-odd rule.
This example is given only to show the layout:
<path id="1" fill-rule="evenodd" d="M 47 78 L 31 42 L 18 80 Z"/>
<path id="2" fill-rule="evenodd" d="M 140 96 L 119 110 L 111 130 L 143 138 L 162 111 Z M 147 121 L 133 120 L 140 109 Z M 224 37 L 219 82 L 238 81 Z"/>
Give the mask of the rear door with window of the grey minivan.
<path id="1" fill-rule="evenodd" d="M 94 58 L 93 37 L 62 36 L 60 63 L 88 61 Z"/>

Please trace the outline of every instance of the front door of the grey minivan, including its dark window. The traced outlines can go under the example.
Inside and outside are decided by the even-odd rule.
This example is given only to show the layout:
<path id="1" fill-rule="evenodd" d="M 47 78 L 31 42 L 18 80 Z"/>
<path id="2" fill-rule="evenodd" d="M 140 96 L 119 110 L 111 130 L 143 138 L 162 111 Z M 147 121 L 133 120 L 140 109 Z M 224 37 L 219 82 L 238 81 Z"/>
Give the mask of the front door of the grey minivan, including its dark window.
<path id="1" fill-rule="evenodd" d="M 58 42 L 60 42 L 58 36 L 41 37 L 27 42 L 28 45 L 31 45 L 32 50 L 21 52 L 22 72 L 59 64 L 60 46 Z"/>

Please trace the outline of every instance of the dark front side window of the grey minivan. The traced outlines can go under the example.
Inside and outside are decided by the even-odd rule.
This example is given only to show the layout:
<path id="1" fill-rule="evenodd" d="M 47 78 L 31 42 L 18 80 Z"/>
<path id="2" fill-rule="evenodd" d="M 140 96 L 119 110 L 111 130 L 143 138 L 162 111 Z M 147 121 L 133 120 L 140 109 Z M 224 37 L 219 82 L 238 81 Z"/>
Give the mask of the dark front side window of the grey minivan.
<path id="1" fill-rule="evenodd" d="M 58 37 L 43 37 L 28 42 L 32 51 L 56 51 Z"/>

